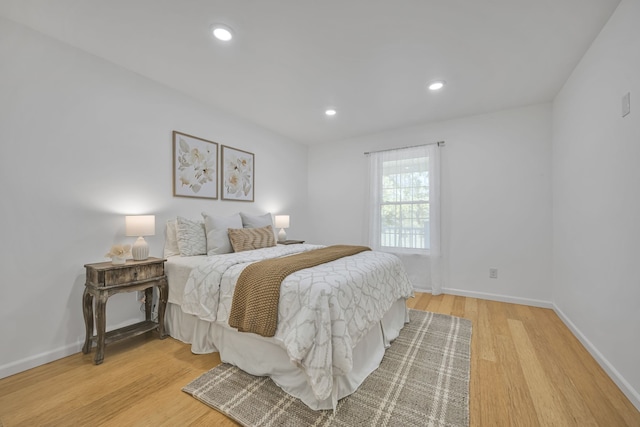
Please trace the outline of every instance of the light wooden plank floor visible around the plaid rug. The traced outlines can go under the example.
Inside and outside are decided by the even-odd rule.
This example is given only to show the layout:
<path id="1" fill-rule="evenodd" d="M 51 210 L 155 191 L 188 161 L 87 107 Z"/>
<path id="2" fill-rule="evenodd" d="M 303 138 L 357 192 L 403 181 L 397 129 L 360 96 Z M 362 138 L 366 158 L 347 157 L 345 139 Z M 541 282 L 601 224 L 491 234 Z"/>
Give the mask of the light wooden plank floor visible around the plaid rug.
<path id="1" fill-rule="evenodd" d="M 418 294 L 408 305 L 473 321 L 472 426 L 640 426 L 640 413 L 549 309 Z M 95 350 L 94 350 L 95 353 Z M 181 388 L 218 354 L 153 333 L 0 380 L 0 427 L 235 426 Z"/>

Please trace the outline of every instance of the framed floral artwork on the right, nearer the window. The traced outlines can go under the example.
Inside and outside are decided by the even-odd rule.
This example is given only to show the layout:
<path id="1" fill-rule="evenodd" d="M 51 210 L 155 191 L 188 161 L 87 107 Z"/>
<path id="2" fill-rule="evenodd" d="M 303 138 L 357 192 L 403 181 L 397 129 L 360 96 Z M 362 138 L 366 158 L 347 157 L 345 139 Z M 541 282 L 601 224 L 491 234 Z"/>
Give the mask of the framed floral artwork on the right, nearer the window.
<path id="1" fill-rule="evenodd" d="M 254 155 L 222 146 L 222 199 L 253 202 Z"/>

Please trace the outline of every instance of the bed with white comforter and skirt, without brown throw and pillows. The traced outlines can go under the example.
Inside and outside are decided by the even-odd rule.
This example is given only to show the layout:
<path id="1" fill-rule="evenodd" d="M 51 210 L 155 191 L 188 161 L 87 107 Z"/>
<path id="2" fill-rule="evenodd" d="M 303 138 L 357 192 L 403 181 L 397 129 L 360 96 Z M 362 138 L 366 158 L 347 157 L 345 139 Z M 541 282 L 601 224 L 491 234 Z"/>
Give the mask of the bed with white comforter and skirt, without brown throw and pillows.
<path id="1" fill-rule="evenodd" d="M 413 288 L 397 257 L 364 251 L 290 274 L 280 286 L 273 337 L 228 324 L 235 284 L 247 265 L 322 247 L 169 254 L 168 333 L 194 353 L 219 351 L 223 362 L 271 377 L 312 409 L 335 409 L 378 367 L 409 320 L 405 301 Z"/>

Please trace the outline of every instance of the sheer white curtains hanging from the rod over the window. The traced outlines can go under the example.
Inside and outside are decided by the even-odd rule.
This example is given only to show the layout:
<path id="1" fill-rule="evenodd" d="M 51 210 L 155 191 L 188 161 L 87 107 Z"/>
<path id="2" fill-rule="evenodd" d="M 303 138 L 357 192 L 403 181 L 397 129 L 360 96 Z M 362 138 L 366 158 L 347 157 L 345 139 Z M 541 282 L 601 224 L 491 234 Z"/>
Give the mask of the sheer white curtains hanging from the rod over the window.
<path id="1" fill-rule="evenodd" d="M 374 250 L 398 255 L 414 288 L 430 289 L 433 295 L 439 295 L 442 293 L 439 144 L 367 154 L 369 245 Z"/>

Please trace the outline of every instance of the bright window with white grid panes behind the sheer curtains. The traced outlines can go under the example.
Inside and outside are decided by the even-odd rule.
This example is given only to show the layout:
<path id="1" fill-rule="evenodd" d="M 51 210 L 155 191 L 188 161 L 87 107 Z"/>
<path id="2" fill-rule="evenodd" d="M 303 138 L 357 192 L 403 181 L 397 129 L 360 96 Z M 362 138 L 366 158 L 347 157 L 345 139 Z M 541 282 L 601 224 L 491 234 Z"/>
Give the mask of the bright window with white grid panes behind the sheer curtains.
<path id="1" fill-rule="evenodd" d="M 369 240 L 374 249 L 425 254 L 432 249 L 434 148 L 423 145 L 369 154 Z"/>

